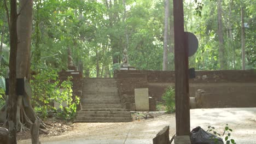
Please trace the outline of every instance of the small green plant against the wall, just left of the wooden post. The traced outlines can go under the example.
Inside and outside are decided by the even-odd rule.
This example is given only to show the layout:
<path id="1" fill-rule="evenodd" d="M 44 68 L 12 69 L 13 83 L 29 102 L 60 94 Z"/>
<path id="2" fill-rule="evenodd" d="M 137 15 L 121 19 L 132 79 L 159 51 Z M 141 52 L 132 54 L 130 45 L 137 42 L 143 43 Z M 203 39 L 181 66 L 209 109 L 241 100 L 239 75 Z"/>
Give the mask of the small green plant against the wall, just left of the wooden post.
<path id="1" fill-rule="evenodd" d="M 168 87 L 166 92 L 162 95 L 162 99 L 165 101 L 167 113 L 173 113 L 175 111 L 175 90 L 173 87 Z"/>

